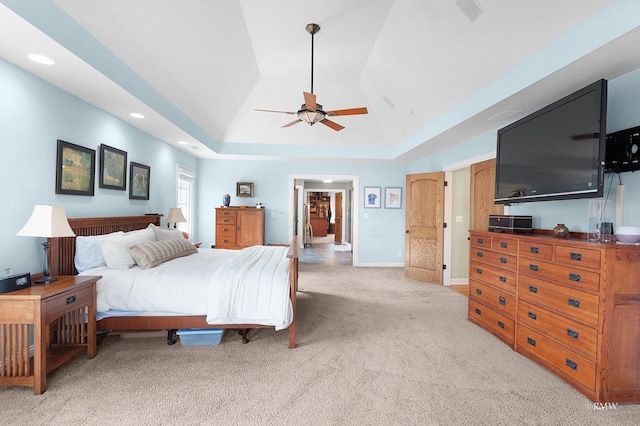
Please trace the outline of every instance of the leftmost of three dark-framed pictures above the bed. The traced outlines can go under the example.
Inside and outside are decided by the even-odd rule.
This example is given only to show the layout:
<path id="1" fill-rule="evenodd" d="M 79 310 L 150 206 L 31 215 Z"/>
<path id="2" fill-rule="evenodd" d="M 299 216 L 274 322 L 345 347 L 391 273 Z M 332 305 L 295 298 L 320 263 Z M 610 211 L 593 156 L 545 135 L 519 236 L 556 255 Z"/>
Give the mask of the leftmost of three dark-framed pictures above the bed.
<path id="1" fill-rule="evenodd" d="M 56 194 L 93 196 L 96 151 L 58 139 Z"/>

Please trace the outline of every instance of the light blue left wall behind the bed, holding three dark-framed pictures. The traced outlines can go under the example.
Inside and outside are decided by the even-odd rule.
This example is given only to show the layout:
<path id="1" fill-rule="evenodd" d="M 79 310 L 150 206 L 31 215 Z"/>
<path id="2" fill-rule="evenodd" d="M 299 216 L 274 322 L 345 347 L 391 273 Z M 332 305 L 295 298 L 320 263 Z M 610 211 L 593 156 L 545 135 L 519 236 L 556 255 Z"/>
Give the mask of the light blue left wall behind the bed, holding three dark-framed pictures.
<path id="1" fill-rule="evenodd" d="M 196 161 L 152 136 L 0 60 L 0 273 L 42 270 L 42 238 L 18 237 L 36 204 L 59 205 L 68 217 L 166 214 L 176 203 L 175 169 Z M 128 191 L 98 187 L 95 196 L 57 195 L 58 139 L 96 150 L 104 143 L 151 167 L 150 200 L 129 200 Z"/>

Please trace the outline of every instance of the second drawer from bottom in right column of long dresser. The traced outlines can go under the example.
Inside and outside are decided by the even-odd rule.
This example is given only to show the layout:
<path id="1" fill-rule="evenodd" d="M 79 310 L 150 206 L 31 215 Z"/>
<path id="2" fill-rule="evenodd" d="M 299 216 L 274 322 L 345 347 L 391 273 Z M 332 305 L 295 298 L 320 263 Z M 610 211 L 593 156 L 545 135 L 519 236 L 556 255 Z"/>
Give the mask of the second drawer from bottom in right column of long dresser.
<path id="1" fill-rule="evenodd" d="M 526 325 L 591 359 L 596 359 L 598 332 L 595 328 L 524 300 L 518 304 L 518 326 L 520 325 Z"/>

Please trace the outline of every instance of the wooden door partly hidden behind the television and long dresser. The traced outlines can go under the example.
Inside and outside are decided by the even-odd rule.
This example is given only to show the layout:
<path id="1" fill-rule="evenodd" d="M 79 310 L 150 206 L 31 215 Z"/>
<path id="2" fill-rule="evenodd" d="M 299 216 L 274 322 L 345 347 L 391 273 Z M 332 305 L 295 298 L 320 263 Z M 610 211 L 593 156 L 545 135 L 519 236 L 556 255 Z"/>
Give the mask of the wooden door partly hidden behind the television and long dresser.
<path id="1" fill-rule="evenodd" d="M 493 203 L 496 159 L 472 164 L 470 175 L 469 228 L 474 231 L 486 231 L 489 228 L 490 214 L 504 214 L 504 206 Z"/>

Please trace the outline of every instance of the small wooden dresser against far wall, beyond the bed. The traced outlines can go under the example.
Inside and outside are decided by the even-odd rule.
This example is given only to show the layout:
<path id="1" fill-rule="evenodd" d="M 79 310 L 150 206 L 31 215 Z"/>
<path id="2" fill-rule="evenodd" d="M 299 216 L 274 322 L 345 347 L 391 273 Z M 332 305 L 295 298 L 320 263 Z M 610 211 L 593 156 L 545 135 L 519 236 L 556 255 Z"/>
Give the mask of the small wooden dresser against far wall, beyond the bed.
<path id="1" fill-rule="evenodd" d="M 216 248 L 264 245 L 264 208 L 216 208 Z"/>

